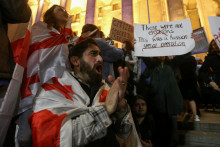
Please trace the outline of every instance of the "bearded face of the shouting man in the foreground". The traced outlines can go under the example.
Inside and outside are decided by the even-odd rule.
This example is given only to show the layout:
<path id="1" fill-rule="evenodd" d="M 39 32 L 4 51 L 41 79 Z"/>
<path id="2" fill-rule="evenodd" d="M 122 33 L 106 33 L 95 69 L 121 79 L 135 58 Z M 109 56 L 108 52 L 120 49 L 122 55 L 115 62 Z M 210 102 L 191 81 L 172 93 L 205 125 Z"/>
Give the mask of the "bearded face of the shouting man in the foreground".
<path id="1" fill-rule="evenodd" d="M 90 45 L 80 59 L 80 73 L 84 80 L 91 83 L 100 83 L 102 80 L 102 57 L 100 49 L 96 45 Z"/>

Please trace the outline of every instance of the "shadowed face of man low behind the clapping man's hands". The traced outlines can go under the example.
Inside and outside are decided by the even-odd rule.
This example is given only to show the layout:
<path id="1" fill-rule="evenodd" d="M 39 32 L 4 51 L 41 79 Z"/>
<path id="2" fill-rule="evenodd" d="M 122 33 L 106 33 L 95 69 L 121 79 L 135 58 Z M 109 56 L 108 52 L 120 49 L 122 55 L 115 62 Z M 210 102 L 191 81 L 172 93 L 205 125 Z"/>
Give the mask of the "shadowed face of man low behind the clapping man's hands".
<path id="1" fill-rule="evenodd" d="M 137 117 L 144 117 L 147 113 L 146 102 L 142 99 L 137 99 L 133 106 L 133 110 Z"/>

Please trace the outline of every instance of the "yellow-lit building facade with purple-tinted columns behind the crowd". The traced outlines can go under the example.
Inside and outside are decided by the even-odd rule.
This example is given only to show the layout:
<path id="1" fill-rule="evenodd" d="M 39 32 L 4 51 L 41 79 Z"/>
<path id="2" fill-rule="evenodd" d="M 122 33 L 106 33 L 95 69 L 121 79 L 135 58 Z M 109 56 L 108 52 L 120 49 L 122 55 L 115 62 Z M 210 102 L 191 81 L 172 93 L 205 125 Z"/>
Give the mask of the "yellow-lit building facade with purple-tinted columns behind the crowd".
<path id="1" fill-rule="evenodd" d="M 190 18 L 193 30 L 204 27 L 210 41 L 208 16 L 220 14 L 220 0 L 29 0 L 34 22 L 42 20 L 53 4 L 73 15 L 72 30 L 77 35 L 84 24 L 93 23 L 108 36 L 113 17 L 130 24 Z"/>

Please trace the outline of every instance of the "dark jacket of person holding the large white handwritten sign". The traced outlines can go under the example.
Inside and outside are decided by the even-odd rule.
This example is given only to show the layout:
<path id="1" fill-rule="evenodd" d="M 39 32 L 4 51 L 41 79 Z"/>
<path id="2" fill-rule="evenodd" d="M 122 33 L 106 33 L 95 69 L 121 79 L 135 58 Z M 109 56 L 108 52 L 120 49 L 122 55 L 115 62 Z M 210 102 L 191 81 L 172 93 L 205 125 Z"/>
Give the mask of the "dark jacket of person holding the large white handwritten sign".
<path id="1" fill-rule="evenodd" d="M 171 63 L 165 60 L 163 64 L 157 58 L 144 59 L 150 70 L 150 98 L 152 113 L 176 115 L 182 112 L 182 95 L 175 79 Z"/>

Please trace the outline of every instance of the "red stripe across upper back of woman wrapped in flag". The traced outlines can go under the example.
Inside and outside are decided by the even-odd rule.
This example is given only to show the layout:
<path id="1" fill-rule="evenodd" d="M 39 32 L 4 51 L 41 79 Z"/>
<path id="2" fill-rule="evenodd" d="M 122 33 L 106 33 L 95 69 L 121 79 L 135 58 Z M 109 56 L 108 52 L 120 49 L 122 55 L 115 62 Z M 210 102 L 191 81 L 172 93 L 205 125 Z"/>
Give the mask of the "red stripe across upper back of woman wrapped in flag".
<path id="1" fill-rule="evenodd" d="M 40 49 L 48 49 L 56 45 L 67 43 L 67 40 L 65 39 L 65 34 L 58 34 L 55 32 L 50 32 L 52 37 L 47 38 L 41 42 L 36 42 L 30 46 L 30 51 L 28 53 L 28 57 L 36 51 Z"/>

